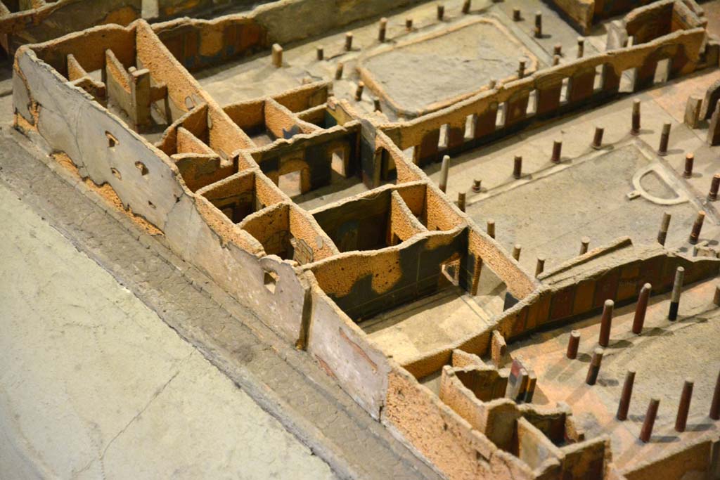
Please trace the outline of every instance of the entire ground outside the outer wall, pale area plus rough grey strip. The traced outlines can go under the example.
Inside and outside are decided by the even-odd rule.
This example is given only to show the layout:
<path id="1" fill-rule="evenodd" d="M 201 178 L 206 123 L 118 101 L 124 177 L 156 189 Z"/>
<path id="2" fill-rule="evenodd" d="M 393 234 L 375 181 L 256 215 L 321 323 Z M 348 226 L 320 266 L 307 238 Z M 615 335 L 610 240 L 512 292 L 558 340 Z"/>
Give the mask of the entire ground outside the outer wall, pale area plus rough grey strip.
<path id="1" fill-rule="evenodd" d="M 1 124 L 0 186 L 0 479 L 440 478 L 307 353 Z"/>

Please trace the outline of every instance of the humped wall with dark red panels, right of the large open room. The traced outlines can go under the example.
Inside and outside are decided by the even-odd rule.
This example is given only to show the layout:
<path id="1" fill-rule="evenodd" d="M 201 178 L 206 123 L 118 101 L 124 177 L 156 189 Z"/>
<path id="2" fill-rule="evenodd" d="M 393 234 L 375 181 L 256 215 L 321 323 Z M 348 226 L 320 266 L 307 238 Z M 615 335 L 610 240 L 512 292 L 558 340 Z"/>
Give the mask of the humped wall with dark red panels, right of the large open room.
<path id="1" fill-rule="evenodd" d="M 403 366 L 422 378 L 449 364 L 454 348 L 477 355 L 487 353 L 492 330 L 511 340 L 572 317 L 600 312 L 606 299 L 617 304 L 634 301 L 645 283 L 652 284 L 653 294 L 669 291 L 678 266 L 685 268 L 685 282 L 690 284 L 716 276 L 720 259 L 685 258 L 660 245 L 635 247 L 629 239 L 617 240 L 542 274 L 539 279 L 543 286 L 492 318 L 492 326 L 486 330 L 411 359 Z"/>

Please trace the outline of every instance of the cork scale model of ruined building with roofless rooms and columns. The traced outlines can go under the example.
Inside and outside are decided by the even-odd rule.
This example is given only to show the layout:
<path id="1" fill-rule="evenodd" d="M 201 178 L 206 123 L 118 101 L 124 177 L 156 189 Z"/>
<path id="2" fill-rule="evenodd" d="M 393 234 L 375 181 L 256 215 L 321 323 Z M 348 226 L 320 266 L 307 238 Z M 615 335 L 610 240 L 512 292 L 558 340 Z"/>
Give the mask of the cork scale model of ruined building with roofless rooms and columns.
<path id="1" fill-rule="evenodd" d="M 441 476 L 720 479 L 720 1 L 2 1 L 14 128 Z"/>

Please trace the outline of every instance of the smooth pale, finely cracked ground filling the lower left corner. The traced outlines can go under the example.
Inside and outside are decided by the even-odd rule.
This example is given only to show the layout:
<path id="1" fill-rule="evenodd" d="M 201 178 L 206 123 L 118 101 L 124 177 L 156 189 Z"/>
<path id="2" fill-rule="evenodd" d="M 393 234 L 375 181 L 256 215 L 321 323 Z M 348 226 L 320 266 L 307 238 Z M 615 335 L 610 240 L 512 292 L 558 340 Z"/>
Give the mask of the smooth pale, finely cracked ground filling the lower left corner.
<path id="1" fill-rule="evenodd" d="M 330 468 L 0 183 L 0 477 Z"/>

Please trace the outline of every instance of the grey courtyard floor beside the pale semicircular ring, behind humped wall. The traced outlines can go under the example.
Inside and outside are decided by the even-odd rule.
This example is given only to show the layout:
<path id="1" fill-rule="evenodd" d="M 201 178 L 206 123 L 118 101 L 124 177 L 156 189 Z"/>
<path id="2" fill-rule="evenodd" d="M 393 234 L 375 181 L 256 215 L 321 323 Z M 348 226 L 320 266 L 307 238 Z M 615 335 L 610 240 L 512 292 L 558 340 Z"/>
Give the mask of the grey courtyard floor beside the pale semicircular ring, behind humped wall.
<path id="1" fill-rule="evenodd" d="M 577 255 L 583 236 L 592 239 L 592 248 L 621 235 L 652 245 L 666 211 L 673 222 L 667 245 L 681 246 L 696 215 L 693 204 L 667 206 L 626 197 L 634 189 L 634 173 L 649 163 L 633 145 L 625 146 L 479 201 L 468 212 L 480 225 L 490 217 L 503 225 L 498 230 L 503 245 L 519 243 L 526 258 L 534 261 L 545 255 L 554 266 Z M 652 178 L 642 182 L 645 189 L 675 197 L 669 186 Z"/>

